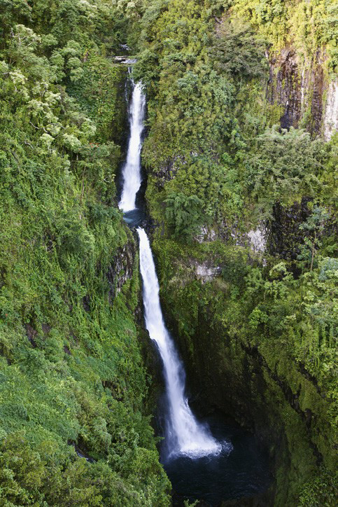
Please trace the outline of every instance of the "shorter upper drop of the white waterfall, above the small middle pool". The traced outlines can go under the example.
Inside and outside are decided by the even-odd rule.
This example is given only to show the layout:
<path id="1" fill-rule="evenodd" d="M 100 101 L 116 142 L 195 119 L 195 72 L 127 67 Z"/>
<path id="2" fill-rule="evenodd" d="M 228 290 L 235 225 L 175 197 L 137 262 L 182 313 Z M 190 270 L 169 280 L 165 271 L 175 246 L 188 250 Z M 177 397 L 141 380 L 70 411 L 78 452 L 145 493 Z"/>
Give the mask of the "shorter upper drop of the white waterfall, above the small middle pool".
<path id="1" fill-rule="evenodd" d="M 122 211 L 135 209 L 136 194 L 141 186 L 141 147 L 146 97 L 142 84 L 132 81 L 132 101 L 129 108 L 130 137 L 127 160 L 122 168 L 122 195 L 118 207 Z"/>

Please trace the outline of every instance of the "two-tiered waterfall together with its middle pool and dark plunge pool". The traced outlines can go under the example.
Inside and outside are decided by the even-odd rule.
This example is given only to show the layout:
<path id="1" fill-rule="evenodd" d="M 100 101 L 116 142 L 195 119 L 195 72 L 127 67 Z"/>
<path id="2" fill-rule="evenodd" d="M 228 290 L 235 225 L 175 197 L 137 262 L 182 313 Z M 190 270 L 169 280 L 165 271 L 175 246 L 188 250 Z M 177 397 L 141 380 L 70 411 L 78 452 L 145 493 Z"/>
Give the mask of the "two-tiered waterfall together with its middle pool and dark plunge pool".
<path id="1" fill-rule="evenodd" d="M 225 423 L 222 416 L 197 419 L 185 392 L 185 369 L 176 345 L 164 323 L 160 287 L 153 253 L 146 231 L 143 203 L 141 147 L 146 97 L 141 83 L 132 83 L 129 104 L 127 157 L 121 168 L 119 208 L 130 228 L 139 236 L 140 270 L 146 328 L 162 359 L 165 393 L 157 414 L 164 437 L 160 460 L 174 490 L 174 505 L 185 499 L 202 500 L 218 506 L 223 500 L 253 496 L 269 483 L 267 458 L 251 433 L 237 424 Z"/>

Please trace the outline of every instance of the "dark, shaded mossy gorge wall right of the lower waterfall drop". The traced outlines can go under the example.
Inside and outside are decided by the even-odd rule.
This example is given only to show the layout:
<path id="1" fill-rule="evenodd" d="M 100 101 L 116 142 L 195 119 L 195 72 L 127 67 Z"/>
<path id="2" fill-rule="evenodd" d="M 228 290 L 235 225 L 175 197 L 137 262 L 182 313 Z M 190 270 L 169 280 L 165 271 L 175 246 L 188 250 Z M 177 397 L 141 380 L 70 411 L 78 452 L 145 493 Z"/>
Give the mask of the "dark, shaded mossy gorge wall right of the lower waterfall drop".
<path id="1" fill-rule="evenodd" d="M 161 251 L 155 241 L 162 304 L 193 400 L 204 415 L 217 409 L 234 417 L 266 448 L 274 479 L 262 505 L 297 505 L 304 482 L 323 464 L 334 466 L 325 392 L 291 359 L 286 344 L 266 336 L 251 345 L 240 324 L 236 331 L 237 324 L 220 317 L 223 305 L 237 306 L 222 278 L 198 279 L 191 274 L 191 258 L 170 261 L 167 251 L 165 265 L 175 266 L 168 274 Z"/>

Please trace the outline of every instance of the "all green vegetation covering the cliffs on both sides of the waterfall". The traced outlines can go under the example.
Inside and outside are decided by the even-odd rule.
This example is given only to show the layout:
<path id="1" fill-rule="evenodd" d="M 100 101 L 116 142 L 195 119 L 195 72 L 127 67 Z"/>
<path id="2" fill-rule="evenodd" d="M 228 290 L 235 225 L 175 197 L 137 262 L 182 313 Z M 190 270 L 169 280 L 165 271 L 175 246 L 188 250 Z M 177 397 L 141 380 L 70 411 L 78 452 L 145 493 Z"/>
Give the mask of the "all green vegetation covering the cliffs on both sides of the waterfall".
<path id="1" fill-rule="evenodd" d="M 115 207 L 125 69 L 109 57 L 126 41 L 188 370 L 271 443 L 276 506 L 333 506 L 337 134 L 279 128 L 265 52 L 292 47 L 304 71 L 323 59 L 328 80 L 336 2 L 0 0 L 0 13 L 0 506 L 170 503 L 144 408 L 136 245 Z"/>

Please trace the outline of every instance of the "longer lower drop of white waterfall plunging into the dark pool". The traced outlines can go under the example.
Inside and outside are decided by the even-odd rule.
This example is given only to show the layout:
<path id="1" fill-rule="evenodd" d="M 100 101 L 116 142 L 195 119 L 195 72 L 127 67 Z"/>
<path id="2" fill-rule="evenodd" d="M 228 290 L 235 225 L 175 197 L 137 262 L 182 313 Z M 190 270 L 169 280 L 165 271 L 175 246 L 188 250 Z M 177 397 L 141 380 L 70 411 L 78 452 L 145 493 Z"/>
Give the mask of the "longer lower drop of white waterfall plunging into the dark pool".
<path id="1" fill-rule="evenodd" d="M 146 232 L 138 228 L 140 239 L 140 268 L 143 280 L 143 304 L 146 328 L 150 338 L 155 340 L 163 361 L 164 378 L 169 402 L 167 419 L 167 446 L 171 454 L 186 454 L 202 457 L 218 454 L 222 446 L 206 426 L 195 419 L 185 397 L 185 373 L 181 361 L 164 325 L 160 306 L 159 291 L 153 254 Z"/>

